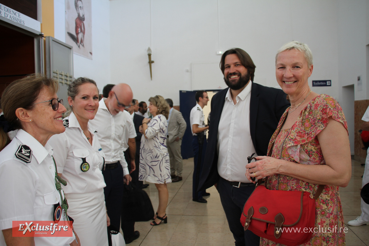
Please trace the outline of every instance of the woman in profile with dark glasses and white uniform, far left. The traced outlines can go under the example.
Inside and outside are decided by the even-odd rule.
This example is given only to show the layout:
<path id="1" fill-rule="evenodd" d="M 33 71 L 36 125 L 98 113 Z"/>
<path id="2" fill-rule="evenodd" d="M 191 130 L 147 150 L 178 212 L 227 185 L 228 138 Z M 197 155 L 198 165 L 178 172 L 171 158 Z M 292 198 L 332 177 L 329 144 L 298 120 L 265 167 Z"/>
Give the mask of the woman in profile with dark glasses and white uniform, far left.
<path id="1" fill-rule="evenodd" d="M 0 245 L 79 245 L 74 235 L 13 237 L 11 229 L 12 221 L 60 219 L 60 225 L 68 218 L 58 205 L 66 205 L 63 190 L 56 188 L 64 181 L 56 177 L 53 150 L 46 143 L 65 131 L 62 114 L 66 109 L 57 99 L 58 89 L 55 80 L 30 75 L 12 82 L 1 98 Z M 15 129 L 19 130 L 10 142 L 6 133 Z"/>

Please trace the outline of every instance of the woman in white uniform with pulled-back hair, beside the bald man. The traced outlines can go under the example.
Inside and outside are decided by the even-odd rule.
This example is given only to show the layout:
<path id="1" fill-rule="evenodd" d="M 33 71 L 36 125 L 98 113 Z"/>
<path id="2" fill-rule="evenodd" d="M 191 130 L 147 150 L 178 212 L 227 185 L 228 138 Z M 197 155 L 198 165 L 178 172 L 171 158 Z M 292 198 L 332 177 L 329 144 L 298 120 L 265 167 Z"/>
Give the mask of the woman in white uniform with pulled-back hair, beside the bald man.
<path id="1" fill-rule="evenodd" d="M 58 173 L 68 183 L 63 187 L 68 199 L 68 214 L 82 245 L 108 245 L 104 200 L 104 177 L 101 173 L 104 158 L 99 140 L 91 128 L 90 119 L 99 108 L 96 83 L 78 78 L 68 86 L 68 103 L 72 107 L 63 120 L 65 132 L 49 140 L 54 148 Z"/>

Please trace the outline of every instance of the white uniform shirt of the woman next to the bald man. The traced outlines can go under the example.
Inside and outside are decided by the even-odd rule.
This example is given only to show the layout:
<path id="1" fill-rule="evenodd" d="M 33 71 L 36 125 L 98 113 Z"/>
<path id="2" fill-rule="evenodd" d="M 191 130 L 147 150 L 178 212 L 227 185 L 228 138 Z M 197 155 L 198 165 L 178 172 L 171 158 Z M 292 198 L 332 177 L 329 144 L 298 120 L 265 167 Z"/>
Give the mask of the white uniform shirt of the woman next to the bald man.
<path id="1" fill-rule="evenodd" d="M 104 153 L 95 130 L 89 123 L 87 124 L 87 129 L 92 135 L 90 145 L 75 114 L 71 112 L 64 120 L 67 119 L 69 126 L 65 128 L 65 132 L 52 136 L 48 141 L 54 148 L 58 173 L 61 173 L 62 178 L 68 183 L 63 187 L 65 194 L 91 193 L 104 188 L 106 184 L 101 172 Z M 81 169 L 83 158 L 86 158 L 86 162 L 90 165 L 87 171 Z"/>

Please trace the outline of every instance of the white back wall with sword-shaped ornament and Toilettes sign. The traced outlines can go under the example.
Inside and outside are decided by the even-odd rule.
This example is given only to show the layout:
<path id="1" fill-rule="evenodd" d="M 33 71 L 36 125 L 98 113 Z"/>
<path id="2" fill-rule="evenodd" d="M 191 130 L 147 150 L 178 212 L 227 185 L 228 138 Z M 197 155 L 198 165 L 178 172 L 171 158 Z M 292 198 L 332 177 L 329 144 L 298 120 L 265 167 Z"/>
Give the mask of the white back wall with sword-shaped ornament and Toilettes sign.
<path id="1" fill-rule="evenodd" d="M 161 94 L 178 105 L 178 91 L 192 90 L 191 74 L 185 72 L 191 63 L 218 63 L 218 49 L 239 47 L 254 60 L 255 82 L 277 86 L 275 53 L 294 39 L 306 42 L 313 52 L 314 71 L 309 83 L 332 80 L 332 87 L 314 87 L 314 91 L 340 100 L 341 87 L 354 83 L 354 74 L 365 76 L 362 68 L 367 3 L 368 0 L 111 0 L 111 80 L 130 84 L 138 100 Z M 148 46 L 155 61 L 152 81 Z M 345 73 L 343 66 L 355 69 Z M 355 93 L 355 98 L 366 97 L 364 86 L 363 91 L 359 96 Z"/>

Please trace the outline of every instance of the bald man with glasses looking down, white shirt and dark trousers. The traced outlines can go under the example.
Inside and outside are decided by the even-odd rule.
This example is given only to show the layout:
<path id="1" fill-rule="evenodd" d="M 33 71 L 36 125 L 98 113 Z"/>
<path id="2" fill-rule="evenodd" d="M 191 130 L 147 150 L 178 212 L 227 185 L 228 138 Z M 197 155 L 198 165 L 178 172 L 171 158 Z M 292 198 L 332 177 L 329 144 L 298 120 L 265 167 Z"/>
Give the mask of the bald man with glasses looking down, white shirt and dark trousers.
<path id="1" fill-rule="evenodd" d="M 99 102 L 99 110 L 95 118 L 90 120 L 105 154 L 103 176 L 106 183 L 104 188 L 105 203 L 110 224 L 119 231 L 122 209 L 124 183 L 131 181 L 128 164 L 124 158 L 124 150 L 128 148 L 125 139 L 130 119 L 124 109 L 130 108 L 133 98 L 128 84 L 108 84 L 103 89 L 103 98 Z M 133 122 L 132 122 L 133 124 Z M 134 128 L 133 128 L 134 129 Z M 134 138 L 136 133 L 129 135 Z"/>

